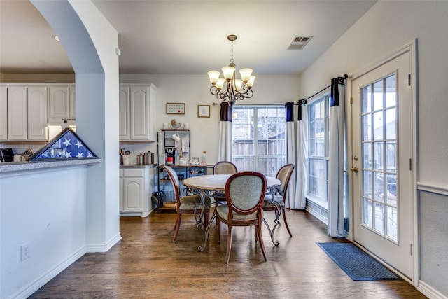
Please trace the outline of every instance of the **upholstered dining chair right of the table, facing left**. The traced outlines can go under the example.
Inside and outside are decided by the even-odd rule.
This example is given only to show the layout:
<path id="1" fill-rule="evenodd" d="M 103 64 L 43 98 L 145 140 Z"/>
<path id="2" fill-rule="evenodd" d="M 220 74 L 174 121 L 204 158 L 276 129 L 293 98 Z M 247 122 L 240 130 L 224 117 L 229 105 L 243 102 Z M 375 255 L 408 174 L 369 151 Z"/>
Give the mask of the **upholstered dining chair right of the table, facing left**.
<path id="1" fill-rule="evenodd" d="M 288 226 L 288 221 L 286 221 L 286 213 L 285 213 L 285 200 L 286 200 L 286 191 L 288 190 L 288 185 L 289 185 L 289 179 L 291 178 L 291 174 L 293 174 L 293 170 L 294 170 L 294 165 L 293 164 L 287 164 L 287 165 L 283 165 L 279 171 L 276 174 L 276 178 L 279 179 L 281 181 L 281 185 L 279 187 L 277 187 L 276 189 L 276 193 L 274 194 L 274 200 L 276 201 L 276 204 L 281 207 L 281 214 L 283 214 L 283 221 L 285 223 L 286 226 L 286 230 L 288 230 L 289 232 L 289 236 L 293 237 L 293 235 L 291 234 L 291 231 L 289 229 Z M 268 195 L 270 196 L 270 195 Z M 272 203 L 271 200 L 265 200 L 265 202 L 263 202 L 263 210 L 264 211 L 275 211 L 276 216 L 278 216 L 279 210 L 277 209 L 277 207 Z"/>

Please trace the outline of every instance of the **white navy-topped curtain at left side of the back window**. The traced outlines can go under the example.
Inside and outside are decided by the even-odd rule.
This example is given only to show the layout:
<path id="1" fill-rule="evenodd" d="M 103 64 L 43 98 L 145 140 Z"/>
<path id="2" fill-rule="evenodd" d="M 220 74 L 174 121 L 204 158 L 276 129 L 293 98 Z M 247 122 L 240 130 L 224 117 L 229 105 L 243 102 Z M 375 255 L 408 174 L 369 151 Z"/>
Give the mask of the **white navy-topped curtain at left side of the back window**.
<path id="1" fill-rule="evenodd" d="M 218 161 L 232 161 L 232 106 L 228 102 L 221 103 Z"/>

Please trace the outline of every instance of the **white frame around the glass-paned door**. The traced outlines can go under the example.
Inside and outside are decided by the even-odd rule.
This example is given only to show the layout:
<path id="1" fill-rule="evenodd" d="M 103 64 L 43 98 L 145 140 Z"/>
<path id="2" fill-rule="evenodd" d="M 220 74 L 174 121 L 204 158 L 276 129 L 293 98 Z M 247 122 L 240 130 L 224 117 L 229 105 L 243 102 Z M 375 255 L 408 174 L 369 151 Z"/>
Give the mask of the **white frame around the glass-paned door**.
<path id="1" fill-rule="evenodd" d="M 351 81 L 355 78 L 358 78 L 360 76 L 363 76 L 367 74 L 368 72 L 372 71 L 373 69 L 376 69 L 377 67 L 380 67 L 383 64 L 386 64 L 387 62 L 390 62 L 391 60 L 395 59 L 395 57 L 398 57 L 402 55 L 402 53 L 408 52 L 411 56 L 411 61 L 409 62 L 411 64 L 411 88 L 412 88 L 412 169 L 414 169 L 414 172 L 412 174 L 412 209 L 413 209 L 413 274 L 412 274 L 412 281 L 409 281 L 406 277 L 402 277 L 403 279 L 409 281 L 409 283 L 413 284 L 414 286 L 418 286 L 419 281 L 419 228 L 418 228 L 418 205 L 417 205 L 417 179 L 418 179 L 418 156 L 417 156 L 417 148 L 418 148 L 418 135 L 417 135 L 417 100 L 418 100 L 418 93 L 417 93 L 417 83 L 418 83 L 418 76 L 417 76 L 417 39 L 414 39 L 407 43 L 405 46 L 402 46 L 400 49 L 396 50 L 395 52 L 386 55 L 383 59 L 379 60 L 379 62 L 375 62 L 374 64 L 371 64 L 369 67 L 365 67 L 364 69 L 361 69 L 360 71 L 356 71 L 353 75 L 349 76 L 349 80 L 347 81 L 347 134 L 348 137 L 348 168 L 352 167 L 352 157 L 353 157 L 353 107 L 352 107 L 352 94 L 351 94 Z M 349 235 L 347 238 L 351 241 L 353 241 L 353 173 L 349 174 Z"/>

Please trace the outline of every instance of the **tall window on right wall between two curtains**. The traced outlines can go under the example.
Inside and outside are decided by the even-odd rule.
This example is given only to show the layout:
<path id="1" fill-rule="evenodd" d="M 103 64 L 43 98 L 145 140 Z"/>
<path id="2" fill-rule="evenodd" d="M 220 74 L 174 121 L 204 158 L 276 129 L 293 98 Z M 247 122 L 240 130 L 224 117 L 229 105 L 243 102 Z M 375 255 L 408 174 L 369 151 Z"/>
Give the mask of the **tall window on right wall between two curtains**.
<path id="1" fill-rule="evenodd" d="M 309 200 L 327 207 L 328 161 L 330 156 L 330 96 L 325 95 L 308 104 Z"/>

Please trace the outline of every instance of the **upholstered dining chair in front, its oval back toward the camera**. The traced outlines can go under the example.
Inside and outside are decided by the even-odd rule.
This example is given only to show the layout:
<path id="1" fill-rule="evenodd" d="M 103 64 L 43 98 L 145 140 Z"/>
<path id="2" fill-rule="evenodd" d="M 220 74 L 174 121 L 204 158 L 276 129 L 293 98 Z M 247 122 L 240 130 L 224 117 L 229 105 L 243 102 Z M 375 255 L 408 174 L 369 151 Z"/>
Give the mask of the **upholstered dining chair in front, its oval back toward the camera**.
<path id="1" fill-rule="evenodd" d="M 227 252 L 225 263 L 229 263 L 232 249 L 232 228 L 234 226 L 255 226 L 255 240 L 258 239 L 265 260 L 265 244 L 262 238 L 262 204 L 265 200 L 266 177 L 260 172 L 238 172 L 225 183 L 227 204 L 216 207 L 218 243 L 221 243 L 221 223 L 228 225 Z"/>

